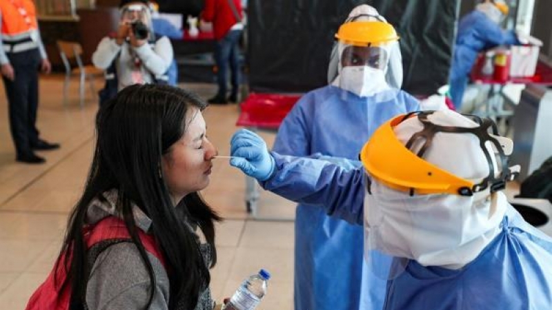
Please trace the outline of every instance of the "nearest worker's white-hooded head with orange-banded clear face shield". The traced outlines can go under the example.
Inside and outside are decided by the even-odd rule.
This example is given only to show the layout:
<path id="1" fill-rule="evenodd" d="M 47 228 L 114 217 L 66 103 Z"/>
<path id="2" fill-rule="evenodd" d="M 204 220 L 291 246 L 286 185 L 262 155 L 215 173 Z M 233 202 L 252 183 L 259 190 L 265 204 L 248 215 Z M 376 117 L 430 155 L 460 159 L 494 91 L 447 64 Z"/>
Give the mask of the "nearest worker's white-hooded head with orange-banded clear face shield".
<path id="1" fill-rule="evenodd" d="M 375 276 L 400 276 L 411 260 L 460 269 L 475 259 L 506 211 L 499 191 L 519 171 L 507 166 L 512 149 L 489 119 L 452 111 L 382 125 L 362 150 L 364 257 Z"/>

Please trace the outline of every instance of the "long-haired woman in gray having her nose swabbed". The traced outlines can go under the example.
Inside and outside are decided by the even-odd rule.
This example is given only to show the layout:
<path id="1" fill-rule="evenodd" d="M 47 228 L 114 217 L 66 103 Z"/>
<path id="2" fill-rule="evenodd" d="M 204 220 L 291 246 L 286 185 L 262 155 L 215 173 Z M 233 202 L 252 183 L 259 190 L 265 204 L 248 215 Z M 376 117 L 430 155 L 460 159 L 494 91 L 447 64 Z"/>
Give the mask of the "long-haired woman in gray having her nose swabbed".
<path id="1" fill-rule="evenodd" d="M 213 309 L 209 268 L 220 218 L 199 195 L 217 154 L 206 137 L 205 107 L 195 94 L 163 85 L 126 87 L 101 106 L 90 174 L 62 247 L 72 256 L 57 261 L 68 270 L 71 304 Z M 84 231 L 113 219 L 131 238 L 88 249 Z M 152 237 L 160 257 L 139 234 Z"/>

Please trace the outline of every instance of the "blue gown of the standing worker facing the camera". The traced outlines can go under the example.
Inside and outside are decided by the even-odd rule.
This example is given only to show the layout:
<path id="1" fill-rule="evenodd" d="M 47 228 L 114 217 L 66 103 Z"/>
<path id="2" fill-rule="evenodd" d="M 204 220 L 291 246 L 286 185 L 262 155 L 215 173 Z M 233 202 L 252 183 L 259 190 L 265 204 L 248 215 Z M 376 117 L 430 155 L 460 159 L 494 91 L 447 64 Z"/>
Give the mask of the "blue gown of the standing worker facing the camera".
<path id="1" fill-rule="evenodd" d="M 393 99 L 375 102 L 339 87 L 322 87 L 293 107 L 279 127 L 273 150 L 293 156 L 348 158 L 360 165 L 362 145 L 377 127 L 397 114 L 416 110 L 418 101 L 402 91 L 393 93 Z M 311 205 L 297 207 L 296 310 L 382 308 L 385 282 L 373 285 L 377 280 L 363 267 L 363 240 L 362 227 L 330 218 Z"/>

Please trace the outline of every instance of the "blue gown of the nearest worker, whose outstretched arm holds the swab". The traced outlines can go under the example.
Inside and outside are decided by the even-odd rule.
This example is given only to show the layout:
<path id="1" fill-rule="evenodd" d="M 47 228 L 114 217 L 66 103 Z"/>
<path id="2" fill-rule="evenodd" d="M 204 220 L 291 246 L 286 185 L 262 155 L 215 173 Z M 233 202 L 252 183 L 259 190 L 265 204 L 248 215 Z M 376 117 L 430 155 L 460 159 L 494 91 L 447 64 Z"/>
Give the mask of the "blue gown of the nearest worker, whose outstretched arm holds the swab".
<path id="1" fill-rule="evenodd" d="M 265 189 L 363 224 L 364 169 L 346 171 L 311 158 L 275 152 L 273 156 L 277 169 L 261 182 Z M 424 267 L 409 260 L 400 276 L 387 282 L 384 309 L 552 309 L 552 238 L 526 223 L 511 205 L 500 228 L 500 234 L 462 269 Z"/>

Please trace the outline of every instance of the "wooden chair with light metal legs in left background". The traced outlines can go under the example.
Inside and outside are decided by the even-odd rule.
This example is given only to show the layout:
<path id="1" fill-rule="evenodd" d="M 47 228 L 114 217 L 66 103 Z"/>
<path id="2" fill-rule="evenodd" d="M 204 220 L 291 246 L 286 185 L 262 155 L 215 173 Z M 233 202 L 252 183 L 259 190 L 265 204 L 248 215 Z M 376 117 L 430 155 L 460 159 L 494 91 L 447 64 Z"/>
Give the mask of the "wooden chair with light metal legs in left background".
<path id="1" fill-rule="evenodd" d="M 77 42 L 70 41 L 57 41 L 57 48 L 59 49 L 59 56 L 65 66 L 65 82 L 63 83 L 63 103 L 67 103 L 68 88 L 73 74 L 78 74 L 79 83 L 79 99 L 81 107 L 84 105 L 84 84 L 86 79 L 90 81 L 90 91 L 92 92 L 92 98 L 96 98 L 96 91 L 94 88 L 94 76 L 103 76 L 103 70 L 95 68 L 93 65 L 83 65 L 82 62 L 82 48 Z M 71 63 L 75 63 L 77 66 L 71 68 Z"/>

